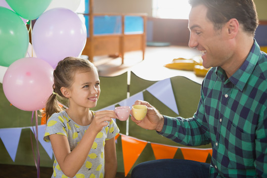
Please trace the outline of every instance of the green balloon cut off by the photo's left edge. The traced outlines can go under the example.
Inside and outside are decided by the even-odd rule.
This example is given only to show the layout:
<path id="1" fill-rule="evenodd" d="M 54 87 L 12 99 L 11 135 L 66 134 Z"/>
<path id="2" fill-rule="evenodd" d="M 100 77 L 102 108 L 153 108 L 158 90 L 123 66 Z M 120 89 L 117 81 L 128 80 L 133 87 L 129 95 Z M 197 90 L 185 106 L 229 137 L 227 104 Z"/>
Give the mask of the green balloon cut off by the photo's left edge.
<path id="1" fill-rule="evenodd" d="M 29 34 L 22 19 L 12 10 L 0 7 L 0 66 L 8 67 L 25 57 Z"/>

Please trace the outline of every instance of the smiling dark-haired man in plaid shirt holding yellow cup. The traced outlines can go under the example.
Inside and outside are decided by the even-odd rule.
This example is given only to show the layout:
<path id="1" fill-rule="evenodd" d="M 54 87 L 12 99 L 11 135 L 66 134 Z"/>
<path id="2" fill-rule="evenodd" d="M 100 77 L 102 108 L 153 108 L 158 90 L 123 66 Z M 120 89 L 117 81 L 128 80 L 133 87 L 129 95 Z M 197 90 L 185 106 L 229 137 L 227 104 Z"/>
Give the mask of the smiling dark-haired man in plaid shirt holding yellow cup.
<path id="1" fill-rule="evenodd" d="M 212 143 L 211 164 L 163 159 L 137 165 L 132 178 L 267 177 L 267 54 L 254 39 L 253 0 L 189 0 L 189 46 L 210 69 L 192 118 L 161 115 L 145 101 L 140 127 L 180 144 Z"/>

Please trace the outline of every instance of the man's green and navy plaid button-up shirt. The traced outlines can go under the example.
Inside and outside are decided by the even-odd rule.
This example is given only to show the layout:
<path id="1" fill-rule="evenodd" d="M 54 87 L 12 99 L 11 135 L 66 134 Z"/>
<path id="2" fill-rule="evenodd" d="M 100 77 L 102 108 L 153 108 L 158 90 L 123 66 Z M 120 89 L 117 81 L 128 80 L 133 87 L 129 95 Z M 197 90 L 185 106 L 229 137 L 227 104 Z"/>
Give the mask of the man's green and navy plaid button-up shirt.
<path id="1" fill-rule="evenodd" d="M 164 116 L 161 133 L 178 143 L 212 143 L 210 177 L 267 178 L 267 54 L 257 42 L 227 79 L 212 68 L 192 118 Z"/>

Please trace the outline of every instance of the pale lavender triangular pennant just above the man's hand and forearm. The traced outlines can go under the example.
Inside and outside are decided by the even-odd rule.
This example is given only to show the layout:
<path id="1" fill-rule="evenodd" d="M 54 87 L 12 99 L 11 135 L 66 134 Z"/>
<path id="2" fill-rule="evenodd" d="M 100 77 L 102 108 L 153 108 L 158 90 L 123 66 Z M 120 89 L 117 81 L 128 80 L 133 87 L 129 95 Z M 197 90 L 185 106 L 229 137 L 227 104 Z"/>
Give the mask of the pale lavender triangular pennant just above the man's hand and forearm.
<path id="1" fill-rule="evenodd" d="M 170 78 L 159 81 L 146 90 L 171 108 L 176 114 L 179 114 Z"/>

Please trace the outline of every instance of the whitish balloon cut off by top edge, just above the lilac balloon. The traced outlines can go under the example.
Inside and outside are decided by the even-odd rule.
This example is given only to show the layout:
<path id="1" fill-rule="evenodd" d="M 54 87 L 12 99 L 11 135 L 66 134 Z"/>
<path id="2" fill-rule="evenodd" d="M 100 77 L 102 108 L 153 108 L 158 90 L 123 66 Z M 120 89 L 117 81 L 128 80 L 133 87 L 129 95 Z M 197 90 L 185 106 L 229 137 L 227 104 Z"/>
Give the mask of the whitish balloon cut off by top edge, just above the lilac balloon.
<path id="1" fill-rule="evenodd" d="M 52 0 L 50 5 L 47 7 L 45 11 L 52 8 L 64 7 L 76 12 L 80 3 L 81 0 Z"/>

